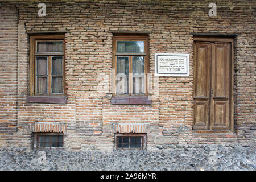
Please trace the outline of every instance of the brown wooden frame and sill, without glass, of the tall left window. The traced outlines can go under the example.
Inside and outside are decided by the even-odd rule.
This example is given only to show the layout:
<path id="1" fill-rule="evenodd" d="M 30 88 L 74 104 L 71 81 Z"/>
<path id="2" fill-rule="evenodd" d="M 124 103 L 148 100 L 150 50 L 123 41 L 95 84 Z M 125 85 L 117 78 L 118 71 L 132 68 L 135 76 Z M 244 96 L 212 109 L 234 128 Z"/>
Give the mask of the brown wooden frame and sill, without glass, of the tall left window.
<path id="1" fill-rule="evenodd" d="M 36 42 L 37 41 L 63 41 L 63 52 L 47 52 L 47 53 L 36 53 Z M 48 63 L 48 83 L 47 93 L 48 94 L 36 94 L 36 56 L 47 57 Z M 51 93 L 51 57 L 63 56 L 63 93 Z M 56 103 L 65 104 L 67 102 L 66 86 L 65 86 L 65 35 L 64 34 L 36 34 L 30 35 L 30 73 L 29 73 L 29 93 L 27 102 L 44 102 L 44 103 Z"/>

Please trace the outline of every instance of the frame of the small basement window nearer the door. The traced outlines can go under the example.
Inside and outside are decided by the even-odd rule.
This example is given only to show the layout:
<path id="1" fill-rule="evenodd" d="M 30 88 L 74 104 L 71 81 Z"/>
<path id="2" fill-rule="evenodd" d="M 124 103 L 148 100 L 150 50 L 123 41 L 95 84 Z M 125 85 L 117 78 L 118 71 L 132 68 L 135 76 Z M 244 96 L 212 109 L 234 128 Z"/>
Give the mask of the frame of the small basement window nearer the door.
<path id="1" fill-rule="evenodd" d="M 118 137 L 129 137 L 129 148 L 118 147 Z M 130 148 L 130 137 L 142 137 L 141 148 Z M 116 133 L 115 134 L 115 148 L 117 150 L 146 150 L 146 134 L 144 133 Z"/>

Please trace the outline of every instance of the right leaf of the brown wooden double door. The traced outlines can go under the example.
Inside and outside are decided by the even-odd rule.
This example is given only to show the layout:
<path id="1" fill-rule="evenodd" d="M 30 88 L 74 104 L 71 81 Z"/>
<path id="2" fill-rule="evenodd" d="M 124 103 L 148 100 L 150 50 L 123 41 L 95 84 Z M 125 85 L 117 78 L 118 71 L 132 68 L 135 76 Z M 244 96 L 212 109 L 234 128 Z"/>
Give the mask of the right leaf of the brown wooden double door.
<path id="1" fill-rule="evenodd" d="M 212 130 L 228 130 L 229 124 L 229 97 L 230 97 L 230 44 L 215 42 L 213 45 L 213 95 L 211 103 L 213 112 L 210 119 L 213 121 Z"/>

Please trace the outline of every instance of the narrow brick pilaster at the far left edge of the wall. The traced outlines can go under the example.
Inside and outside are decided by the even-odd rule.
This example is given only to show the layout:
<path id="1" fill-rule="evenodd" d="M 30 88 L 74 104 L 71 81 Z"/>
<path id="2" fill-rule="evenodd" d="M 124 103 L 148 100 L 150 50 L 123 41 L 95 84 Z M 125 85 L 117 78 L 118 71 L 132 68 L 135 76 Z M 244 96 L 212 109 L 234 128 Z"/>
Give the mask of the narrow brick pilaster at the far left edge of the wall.
<path id="1" fill-rule="evenodd" d="M 15 7 L 0 9 L 0 145 L 16 132 L 18 65 L 18 12 Z"/>

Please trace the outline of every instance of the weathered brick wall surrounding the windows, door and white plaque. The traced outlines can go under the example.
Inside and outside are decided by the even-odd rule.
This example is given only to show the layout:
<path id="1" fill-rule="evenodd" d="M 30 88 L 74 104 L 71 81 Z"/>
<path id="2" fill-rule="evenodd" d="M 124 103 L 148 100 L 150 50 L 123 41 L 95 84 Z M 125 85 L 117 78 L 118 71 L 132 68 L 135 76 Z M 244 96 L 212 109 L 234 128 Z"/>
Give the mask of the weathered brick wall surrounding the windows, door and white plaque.
<path id="1" fill-rule="evenodd" d="M 3 147 L 8 141 L 29 147 L 30 123 L 67 125 L 64 146 L 69 150 L 112 150 L 112 125 L 123 122 L 150 125 L 148 150 L 154 150 L 158 144 L 255 140 L 255 1 L 218 1 L 217 16 L 213 18 L 208 16 L 210 1 L 53 1 L 46 2 L 46 17 L 38 16 L 38 3 L 0 2 Z M 26 32 L 31 31 L 67 31 L 67 104 L 26 102 L 29 88 Z M 190 76 L 159 77 L 159 96 L 152 100 L 152 105 L 110 104 L 107 93 L 111 93 L 112 31 L 151 32 L 152 74 L 154 53 L 189 53 Z M 234 44 L 234 133 L 192 131 L 192 32 L 240 34 Z M 98 92 L 100 74 L 106 75 L 108 92 Z M 154 79 L 152 85 L 156 82 Z M 18 131 L 11 131 L 15 126 Z"/>

